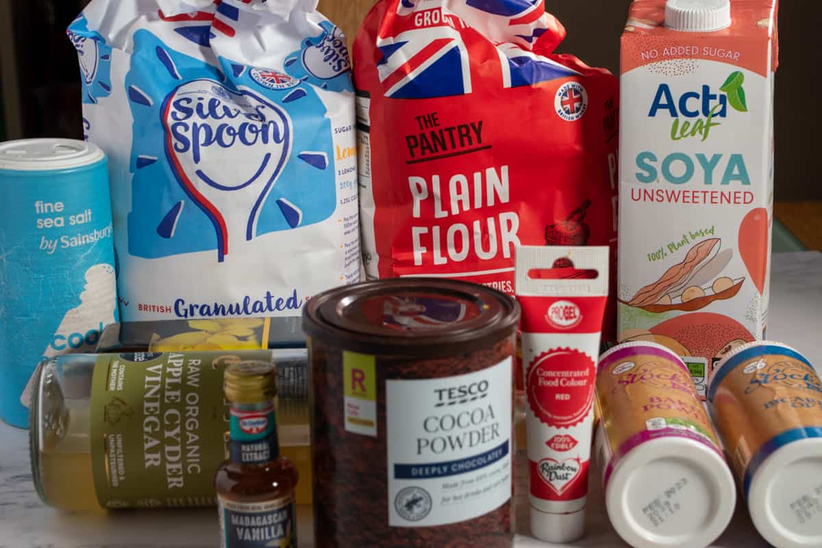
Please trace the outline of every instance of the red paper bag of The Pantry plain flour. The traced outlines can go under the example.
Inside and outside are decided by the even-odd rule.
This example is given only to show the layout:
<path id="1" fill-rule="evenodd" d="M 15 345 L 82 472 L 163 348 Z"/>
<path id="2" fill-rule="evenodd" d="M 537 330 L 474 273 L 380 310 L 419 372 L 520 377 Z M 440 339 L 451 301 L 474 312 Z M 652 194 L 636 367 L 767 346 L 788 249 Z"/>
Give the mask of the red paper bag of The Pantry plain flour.
<path id="1" fill-rule="evenodd" d="M 519 245 L 613 262 L 617 79 L 552 53 L 565 35 L 542 0 L 376 3 L 353 45 L 369 279 L 510 294 Z"/>

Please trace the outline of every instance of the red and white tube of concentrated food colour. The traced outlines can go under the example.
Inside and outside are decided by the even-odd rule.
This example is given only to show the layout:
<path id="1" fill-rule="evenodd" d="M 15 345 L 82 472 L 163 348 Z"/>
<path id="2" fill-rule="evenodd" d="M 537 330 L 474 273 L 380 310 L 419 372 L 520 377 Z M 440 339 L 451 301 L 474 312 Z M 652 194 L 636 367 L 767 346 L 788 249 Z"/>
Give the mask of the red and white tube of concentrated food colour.
<path id="1" fill-rule="evenodd" d="M 570 542 L 584 534 L 608 252 L 534 246 L 516 252 L 531 531 L 543 541 Z"/>

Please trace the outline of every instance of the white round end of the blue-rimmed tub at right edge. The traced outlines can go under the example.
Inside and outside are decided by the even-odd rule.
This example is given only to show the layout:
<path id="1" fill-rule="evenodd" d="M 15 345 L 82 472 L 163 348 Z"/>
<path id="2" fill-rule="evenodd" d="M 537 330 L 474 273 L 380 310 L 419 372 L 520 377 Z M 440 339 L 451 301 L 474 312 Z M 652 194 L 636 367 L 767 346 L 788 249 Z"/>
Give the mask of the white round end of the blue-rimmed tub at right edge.
<path id="1" fill-rule="evenodd" d="M 756 530 L 777 548 L 822 546 L 822 438 L 777 449 L 755 472 L 748 509 Z"/>

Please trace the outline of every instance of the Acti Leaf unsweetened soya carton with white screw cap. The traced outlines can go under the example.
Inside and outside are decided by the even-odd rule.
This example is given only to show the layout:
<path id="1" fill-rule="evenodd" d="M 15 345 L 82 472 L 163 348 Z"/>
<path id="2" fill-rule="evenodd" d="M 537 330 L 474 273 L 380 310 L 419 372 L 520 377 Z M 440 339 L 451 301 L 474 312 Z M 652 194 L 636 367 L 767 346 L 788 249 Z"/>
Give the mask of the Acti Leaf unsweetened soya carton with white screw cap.
<path id="1" fill-rule="evenodd" d="M 619 338 L 662 343 L 704 396 L 764 338 L 778 0 L 635 0 L 622 35 Z"/>

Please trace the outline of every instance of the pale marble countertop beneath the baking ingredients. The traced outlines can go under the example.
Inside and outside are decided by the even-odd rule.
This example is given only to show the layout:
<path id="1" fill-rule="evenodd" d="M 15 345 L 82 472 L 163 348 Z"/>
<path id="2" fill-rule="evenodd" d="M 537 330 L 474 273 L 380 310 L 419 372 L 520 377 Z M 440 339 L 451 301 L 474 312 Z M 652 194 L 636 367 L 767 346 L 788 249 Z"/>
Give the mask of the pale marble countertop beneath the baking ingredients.
<path id="1" fill-rule="evenodd" d="M 822 253 L 774 256 L 769 338 L 798 348 L 822 363 Z M 520 454 L 520 458 L 522 455 Z M 517 548 L 626 546 L 608 522 L 597 474 L 591 477 L 587 535 L 571 545 L 529 536 L 528 488 L 518 466 Z M 299 546 L 313 546 L 311 509 L 298 511 Z M 0 424 L 0 548 L 194 548 L 219 546 L 214 509 L 113 513 L 60 512 L 39 501 L 31 481 L 28 432 Z M 765 548 L 745 504 L 713 546 Z"/>

